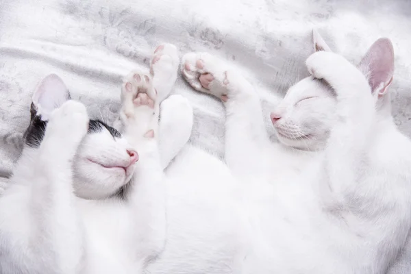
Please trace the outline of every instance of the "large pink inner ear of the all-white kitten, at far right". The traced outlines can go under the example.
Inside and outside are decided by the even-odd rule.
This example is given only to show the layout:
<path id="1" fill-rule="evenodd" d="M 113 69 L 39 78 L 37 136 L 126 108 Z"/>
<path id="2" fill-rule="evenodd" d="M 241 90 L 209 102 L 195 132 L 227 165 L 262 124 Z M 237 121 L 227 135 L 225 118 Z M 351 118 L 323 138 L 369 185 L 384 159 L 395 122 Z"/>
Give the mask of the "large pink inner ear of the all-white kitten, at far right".
<path id="1" fill-rule="evenodd" d="M 369 79 L 371 90 L 378 92 L 379 97 L 386 94 L 393 82 L 394 69 L 394 49 L 388 38 L 375 41 L 360 62 L 360 70 Z"/>

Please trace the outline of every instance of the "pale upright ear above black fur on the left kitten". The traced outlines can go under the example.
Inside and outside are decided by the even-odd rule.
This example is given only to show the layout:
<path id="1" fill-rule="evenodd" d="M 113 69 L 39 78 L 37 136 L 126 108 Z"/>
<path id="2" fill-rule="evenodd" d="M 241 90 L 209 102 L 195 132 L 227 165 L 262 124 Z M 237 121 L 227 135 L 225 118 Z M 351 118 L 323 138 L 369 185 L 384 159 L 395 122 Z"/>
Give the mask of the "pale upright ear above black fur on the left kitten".
<path id="1" fill-rule="evenodd" d="M 50 118 L 51 112 L 70 99 L 69 90 L 63 80 L 58 75 L 47 75 L 38 84 L 32 97 L 33 105 L 37 115 L 41 116 L 42 121 Z"/>

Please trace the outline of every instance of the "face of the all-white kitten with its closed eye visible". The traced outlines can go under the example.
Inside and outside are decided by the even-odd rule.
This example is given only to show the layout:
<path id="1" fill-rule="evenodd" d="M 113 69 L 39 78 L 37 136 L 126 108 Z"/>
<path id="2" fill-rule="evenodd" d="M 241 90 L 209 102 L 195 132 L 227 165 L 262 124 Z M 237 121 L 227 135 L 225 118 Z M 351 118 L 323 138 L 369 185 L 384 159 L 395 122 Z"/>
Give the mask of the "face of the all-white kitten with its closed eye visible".
<path id="1" fill-rule="evenodd" d="M 280 142 L 298 149 L 321 149 L 335 119 L 336 100 L 331 88 L 307 77 L 289 88 L 271 113 Z"/>

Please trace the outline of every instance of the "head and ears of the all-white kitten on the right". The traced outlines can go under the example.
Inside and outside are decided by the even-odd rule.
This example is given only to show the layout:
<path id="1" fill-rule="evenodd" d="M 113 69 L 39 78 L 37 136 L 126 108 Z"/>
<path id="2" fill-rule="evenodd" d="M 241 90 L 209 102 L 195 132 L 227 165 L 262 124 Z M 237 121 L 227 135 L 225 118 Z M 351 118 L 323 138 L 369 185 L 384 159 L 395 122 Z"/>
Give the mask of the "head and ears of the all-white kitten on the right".
<path id="1" fill-rule="evenodd" d="M 318 32 L 313 32 L 314 50 L 331 51 Z M 378 96 L 377 109 L 389 110 L 386 95 L 394 73 L 394 50 L 390 40 L 381 38 L 371 45 L 358 69 L 369 79 Z M 349 81 L 349 79 L 347 79 Z M 306 77 L 290 87 L 271 113 L 277 137 L 284 145 L 298 149 L 322 149 L 336 119 L 336 95 L 323 80 Z M 384 115 L 389 115 L 384 112 Z"/>

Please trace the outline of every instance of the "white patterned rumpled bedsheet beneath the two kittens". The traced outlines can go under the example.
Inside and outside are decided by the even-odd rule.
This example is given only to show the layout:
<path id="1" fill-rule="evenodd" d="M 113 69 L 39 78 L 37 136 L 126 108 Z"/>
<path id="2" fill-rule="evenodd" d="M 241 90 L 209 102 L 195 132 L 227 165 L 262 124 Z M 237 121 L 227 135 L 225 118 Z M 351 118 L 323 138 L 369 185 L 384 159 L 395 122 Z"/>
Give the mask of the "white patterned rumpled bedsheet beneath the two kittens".
<path id="1" fill-rule="evenodd" d="M 110 122 L 122 77 L 147 68 L 155 45 L 172 42 L 182 54 L 208 51 L 234 62 L 259 87 L 268 118 L 286 89 L 308 75 L 313 27 L 353 62 L 377 38 L 393 40 L 395 123 L 411 136 L 410 16 L 408 0 L 0 0 L 0 176 L 10 175 L 31 92 L 48 73 L 65 80 L 90 116 Z M 181 77 L 175 92 L 195 108 L 191 142 L 222 155 L 221 103 Z M 268 119 L 267 130 L 273 135 Z M 411 273 L 411 249 L 390 273 Z"/>

